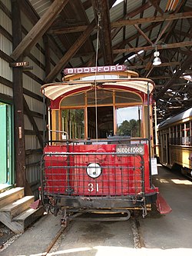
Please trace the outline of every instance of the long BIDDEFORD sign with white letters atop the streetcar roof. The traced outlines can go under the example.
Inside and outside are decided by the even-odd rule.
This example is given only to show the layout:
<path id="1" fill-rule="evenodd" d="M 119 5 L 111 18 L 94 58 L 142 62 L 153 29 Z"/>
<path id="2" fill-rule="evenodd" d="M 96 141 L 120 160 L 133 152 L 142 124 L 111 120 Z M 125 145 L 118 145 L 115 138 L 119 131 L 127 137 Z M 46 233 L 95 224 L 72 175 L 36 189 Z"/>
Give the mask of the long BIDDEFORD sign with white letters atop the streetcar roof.
<path id="1" fill-rule="evenodd" d="M 98 66 L 98 67 L 86 67 L 86 68 L 65 68 L 64 74 L 84 74 L 84 73 L 101 73 L 101 72 L 113 72 L 113 71 L 125 71 L 126 65 L 111 65 L 111 66 Z"/>

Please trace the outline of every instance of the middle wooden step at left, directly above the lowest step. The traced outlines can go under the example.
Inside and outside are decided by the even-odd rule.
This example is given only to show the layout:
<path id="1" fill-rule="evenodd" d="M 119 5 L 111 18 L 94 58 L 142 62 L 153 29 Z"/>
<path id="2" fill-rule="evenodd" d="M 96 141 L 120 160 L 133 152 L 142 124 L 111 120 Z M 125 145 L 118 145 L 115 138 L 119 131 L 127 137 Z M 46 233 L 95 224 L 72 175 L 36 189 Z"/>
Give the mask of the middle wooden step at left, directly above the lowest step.
<path id="1" fill-rule="evenodd" d="M 23 211 L 27 210 L 34 202 L 34 195 L 25 196 L 22 199 L 12 202 L 11 204 L 5 205 L 3 208 L 0 208 L 0 212 L 7 212 L 10 219 L 14 218 L 18 214 L 21 214 Z"/>

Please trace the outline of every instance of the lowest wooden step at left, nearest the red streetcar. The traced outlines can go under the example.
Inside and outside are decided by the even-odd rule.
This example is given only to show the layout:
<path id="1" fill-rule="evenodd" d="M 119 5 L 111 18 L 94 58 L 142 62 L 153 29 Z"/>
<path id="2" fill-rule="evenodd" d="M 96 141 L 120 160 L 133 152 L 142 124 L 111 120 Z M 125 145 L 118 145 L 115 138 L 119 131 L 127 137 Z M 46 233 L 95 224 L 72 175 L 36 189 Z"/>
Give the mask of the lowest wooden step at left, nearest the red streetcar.
<path id="1" fill-rule="evenodd" d="M 38 209 L 28 208 L 26 211 L 22 212 L 15 218 L 12 219 L 12 222 L 18 222 L 22 224 L 23 231 L 27 228 L 31 223 L 35 222 L 38 218 L 44 214 L 44 208 L 40 207 Z"/>

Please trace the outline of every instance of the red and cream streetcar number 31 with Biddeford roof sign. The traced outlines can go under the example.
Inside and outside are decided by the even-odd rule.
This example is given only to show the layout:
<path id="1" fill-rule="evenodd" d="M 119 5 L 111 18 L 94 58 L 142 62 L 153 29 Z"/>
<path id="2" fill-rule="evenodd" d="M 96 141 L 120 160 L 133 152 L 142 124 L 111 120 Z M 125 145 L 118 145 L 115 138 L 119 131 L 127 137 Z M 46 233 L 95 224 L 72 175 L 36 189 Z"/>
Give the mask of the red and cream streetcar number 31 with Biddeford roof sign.
<path id="1" fill-rule="evenodd" d="M 42 204 L 63 222 L 90 212 L 127 220 L 141 210 L 144 217 L 152 205 L 166 213 L 152 184 L 154 81 L 125 65 L 65 68 L 64 74 L 41 86 L 50 102 Z"/>

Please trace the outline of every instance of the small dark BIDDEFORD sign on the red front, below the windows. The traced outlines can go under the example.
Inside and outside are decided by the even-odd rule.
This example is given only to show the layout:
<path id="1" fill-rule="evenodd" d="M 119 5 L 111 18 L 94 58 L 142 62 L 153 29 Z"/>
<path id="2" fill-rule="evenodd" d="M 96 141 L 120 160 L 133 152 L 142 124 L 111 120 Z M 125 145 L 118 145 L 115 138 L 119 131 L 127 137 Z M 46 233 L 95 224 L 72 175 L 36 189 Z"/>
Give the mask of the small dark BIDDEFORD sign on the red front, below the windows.
<path id="1" fill-rule="evenodd" d="M 144 155 L 144 145 L 117 145 L 116 152 L 118 154 L 139 154 Z"/>

